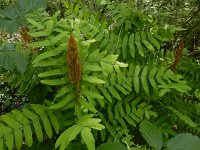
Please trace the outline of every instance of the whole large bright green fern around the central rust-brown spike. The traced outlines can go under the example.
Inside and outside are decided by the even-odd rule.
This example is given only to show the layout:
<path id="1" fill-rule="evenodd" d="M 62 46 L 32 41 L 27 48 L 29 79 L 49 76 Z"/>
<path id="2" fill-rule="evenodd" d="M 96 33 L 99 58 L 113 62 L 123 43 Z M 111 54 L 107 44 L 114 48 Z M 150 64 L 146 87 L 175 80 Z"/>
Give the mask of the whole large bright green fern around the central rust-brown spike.
<path id="1" fill-rule="evenodd" d="M 35 128 L 32 119 L 38 121 L 41 117 L 44 131 L 51 138 L 49 119 L 56 133 L 58 124 L 52 122 L 50 111 L 55 112 L 53 119 L 61 126 L 55 148 L 69 149 L 76 141 L 94 150 L 113 140 L 135 147 L 134 132 L 139 124 L 145 119 L 157 120 L 161 115 L 154 104 L 174 91 L 186 95 L 190 90 L 183 76 L 169 69 L 171 61 L 163 55 L 162 47 L 173 38 L 176 28 L 158 27 L 154 19 L 134 11 L 128 3 L 97 1 L 95 6 L 81 6 L 80 1 L 73 0 L 64 4 L 67 10 L 62 19 L 58 19 L 60 12 L 49 16 L 41 9 L 27 15 L 32 41 L 25 50 L 30 50 L 32 71 L 25 76 L 36 78 L 51 95 L 44 97 L 45 107 L 31 105 L 29 113 L 34 117 L 24 114 L 24 109 L 14 111 L 22 117 L 17 120 L 18 127 L 25 126 L 23 130 L 27 130 L 26 123 L 32 121 L 28 126 Z M 31 83 L 14 82 L 23 91 L 30 90 Z M 190 120 L 171 106 L 159 106 L 167 107 L 186 123 Z M 5 132 L 14 137 L 15 132 L 20 132 L 27 145 L 32 145 L 26 136 L 28 132 L 32 135 L 33 130 L 28 127 L 22 134 L 22 130 L 15 131 L 18 128 L 12 123 L 2 121 Z M 9 126 L 13 129 L 8 129 Z M 42 132 L 35 129 L 39 141 Z M 5 141 L 12 149 L 13 142 L 6 133 L 1 135 L 1 143 Z M 22 138 L 15 140 L 18 149 L 22 141 Z"/>

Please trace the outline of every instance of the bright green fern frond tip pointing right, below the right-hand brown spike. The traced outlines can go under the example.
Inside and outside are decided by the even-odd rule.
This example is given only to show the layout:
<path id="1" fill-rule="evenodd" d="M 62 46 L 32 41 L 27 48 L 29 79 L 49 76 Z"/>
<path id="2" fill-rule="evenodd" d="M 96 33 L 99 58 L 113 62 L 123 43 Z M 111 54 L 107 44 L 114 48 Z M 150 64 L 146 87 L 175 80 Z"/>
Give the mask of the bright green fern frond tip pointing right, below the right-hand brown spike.
<path id="1" fill-rule="evenodd" d="M 143 68 L 139 65 L 130 64 L 128 77 L 132 78 L 136 93 L 140 92 L 141 87 L 147 95 L 153 87 L 155 92 L 159 91 L 159 96 L 163 96 L 172 89 L 182 93 L 187 93 L 190 90 L 181 75 L 176 75 L 171 70 L 165 71 L 163 67 L 149 68 L 145 66 Z"/>

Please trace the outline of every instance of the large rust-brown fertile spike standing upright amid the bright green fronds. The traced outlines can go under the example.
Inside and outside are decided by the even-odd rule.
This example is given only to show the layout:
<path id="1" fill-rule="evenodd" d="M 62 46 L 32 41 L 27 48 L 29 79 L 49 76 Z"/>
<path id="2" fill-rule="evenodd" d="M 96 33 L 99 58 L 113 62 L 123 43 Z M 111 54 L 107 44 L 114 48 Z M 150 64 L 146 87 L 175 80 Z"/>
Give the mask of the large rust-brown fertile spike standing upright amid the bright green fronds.
<path id="1" fill-rule="evenodd" d="M 69 80 L 76 84 L 76 96 L 79 97 L 80 93 L 80 80 L 81 80 L 81 64 L 79 60 L 79 53 L 77 48 L 77 42 L 73 35 L 69 37 L 67 42 L 67 60 L 68 60 L 68 71 Z"/>

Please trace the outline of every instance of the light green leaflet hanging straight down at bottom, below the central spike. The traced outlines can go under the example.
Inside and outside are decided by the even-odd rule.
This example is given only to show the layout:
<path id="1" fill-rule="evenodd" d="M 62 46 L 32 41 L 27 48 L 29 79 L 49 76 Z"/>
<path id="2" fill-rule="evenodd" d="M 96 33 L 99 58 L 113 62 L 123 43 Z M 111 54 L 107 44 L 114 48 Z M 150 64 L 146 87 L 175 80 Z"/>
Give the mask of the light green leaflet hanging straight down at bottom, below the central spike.
<path id="1" fill-rule="evenodd" d="M 84 127 L 81 131 L 81 137 L 88 150 L 95 150 L 95 140 L 90 128 Z"/>

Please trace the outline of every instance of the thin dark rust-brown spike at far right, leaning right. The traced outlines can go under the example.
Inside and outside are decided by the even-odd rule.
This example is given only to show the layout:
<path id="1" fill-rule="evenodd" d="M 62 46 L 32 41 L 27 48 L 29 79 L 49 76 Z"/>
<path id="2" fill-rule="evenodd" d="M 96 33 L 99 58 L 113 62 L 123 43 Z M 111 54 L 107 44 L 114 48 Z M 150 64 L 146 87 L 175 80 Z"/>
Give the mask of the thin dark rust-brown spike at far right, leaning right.
<path id="1" fill-rule="evenodd" d="M 184 49 L 184 41 L 181 40 L 179 45 L 178 45 L 178 47 L 177 47 L 177 49 L 176 49 L 175 60 L 174 60 L 174 63 L 172 65 L 172 68 L 171 68 L 173 72 L 176 72 L 176 67 L 177 67 L 177 65 L 178 65 L 178 63 L 180 61 L 181 56 L 182 56 L 183 49 Z"/>

